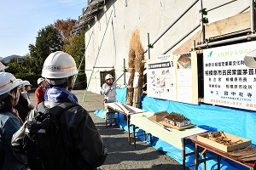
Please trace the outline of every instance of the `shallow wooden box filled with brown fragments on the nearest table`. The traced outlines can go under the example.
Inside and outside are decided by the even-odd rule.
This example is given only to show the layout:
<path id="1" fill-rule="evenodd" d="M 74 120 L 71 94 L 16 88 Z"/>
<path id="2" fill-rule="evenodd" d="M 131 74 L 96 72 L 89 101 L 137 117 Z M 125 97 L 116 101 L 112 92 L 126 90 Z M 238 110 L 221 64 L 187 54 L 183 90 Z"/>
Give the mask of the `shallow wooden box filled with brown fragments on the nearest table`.
<path id="1" fill-rule="evenodd" d="M 239 150 L 251 145 L 251 140 L 224 133 L 223 131 L 197 135 L 197 140 L 225 152 Z"/>

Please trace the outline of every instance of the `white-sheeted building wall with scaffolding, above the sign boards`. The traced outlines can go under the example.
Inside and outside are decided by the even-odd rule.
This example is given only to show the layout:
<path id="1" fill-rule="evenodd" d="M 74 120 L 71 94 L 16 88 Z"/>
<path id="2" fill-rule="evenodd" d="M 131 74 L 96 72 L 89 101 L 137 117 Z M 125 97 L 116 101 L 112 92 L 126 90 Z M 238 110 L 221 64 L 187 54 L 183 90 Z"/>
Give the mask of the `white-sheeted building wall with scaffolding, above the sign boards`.
<path id="1" fill-rule="evenodd" d="M 73 28 L 85 30 L 88 90 L 100 93 L 102 71 L 118 78 L 128 67 L 132 31 L 140 31 L 145 59 L 252 41 L 250 5 L 249 0 L 90 1 Z"/>

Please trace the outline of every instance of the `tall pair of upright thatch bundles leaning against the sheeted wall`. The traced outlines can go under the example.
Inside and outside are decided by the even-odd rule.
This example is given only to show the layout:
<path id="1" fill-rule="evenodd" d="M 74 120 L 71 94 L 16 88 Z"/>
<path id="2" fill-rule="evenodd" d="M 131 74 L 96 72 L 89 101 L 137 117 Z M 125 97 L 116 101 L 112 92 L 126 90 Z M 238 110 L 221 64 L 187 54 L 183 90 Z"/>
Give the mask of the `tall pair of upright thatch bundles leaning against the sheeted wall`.
<path id="1" fill-rule="evenodd" d="M 143 45 L 140 41 L 140 32 L 136 30 L 131 34 L 130 41 L 130 52 L 129 52 L 129 62 L 128 62 L 128 72 L 131 73 L 131 77 L 128 85 L 133 86 L 134 73 L 138 72 L 140 74 L 138 79 L 137 88 L 128 88 L 126 94 L 126 105 L 132 105 L 139 108 L 141 103 L 141 98 L 143 94 L 143 70 L 144 70 L 144 50 Z"/>

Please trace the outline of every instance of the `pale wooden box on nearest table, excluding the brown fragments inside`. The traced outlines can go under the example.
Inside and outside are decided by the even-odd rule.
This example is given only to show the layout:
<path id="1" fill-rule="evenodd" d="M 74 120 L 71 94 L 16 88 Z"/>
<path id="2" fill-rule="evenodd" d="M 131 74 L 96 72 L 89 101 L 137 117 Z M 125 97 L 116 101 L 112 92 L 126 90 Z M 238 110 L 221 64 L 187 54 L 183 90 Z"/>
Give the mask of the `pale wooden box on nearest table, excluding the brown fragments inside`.
<path id="1" fill-rule="evenodd" d="M 220 132 L 215 132 L 214 135 L 218 136 Z M 218 150 L 223 150 L 224 152 L 229 152 L 233 150 L 240 150 L 242 148 L 246 148 L 247 146 L 251 145 L 251 140 L 249 139 L 244 139 L 238 136 L 235 136 L 230 133 L 224 133 L 227 139 L 231 139 L 232 142 L 236 142 L 238 140 L 242 140 L 241 143 L 238 144 L 231 144 L 231 145 L 224 145 L 224 144 L 219 144 L 218 142 L 215 142 L 211 139 L 207 139 L 208 134 L 201 134 L 197 135 L 197 140 L 201 143 L 210 145 L 214 148 L 217 148 Z"/>

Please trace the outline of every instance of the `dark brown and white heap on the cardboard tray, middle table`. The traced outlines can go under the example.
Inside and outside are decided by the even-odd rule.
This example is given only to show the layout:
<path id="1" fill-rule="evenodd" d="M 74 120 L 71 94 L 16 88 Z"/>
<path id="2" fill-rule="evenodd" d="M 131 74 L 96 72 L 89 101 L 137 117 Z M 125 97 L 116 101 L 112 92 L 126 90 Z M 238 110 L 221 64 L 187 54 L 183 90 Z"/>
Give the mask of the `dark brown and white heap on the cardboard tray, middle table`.
<path id="1" fill-rule="evenodd" d="M 190 124 L 189 118 L 183 116 L 183 114 L 176 112 L 172 112 L 166 116 L 163 116 L 163 118 L 165 119 L 164 122 L 166 122 L 166 124 L 170 124 L 176 127 L 185 127 Z"/>

